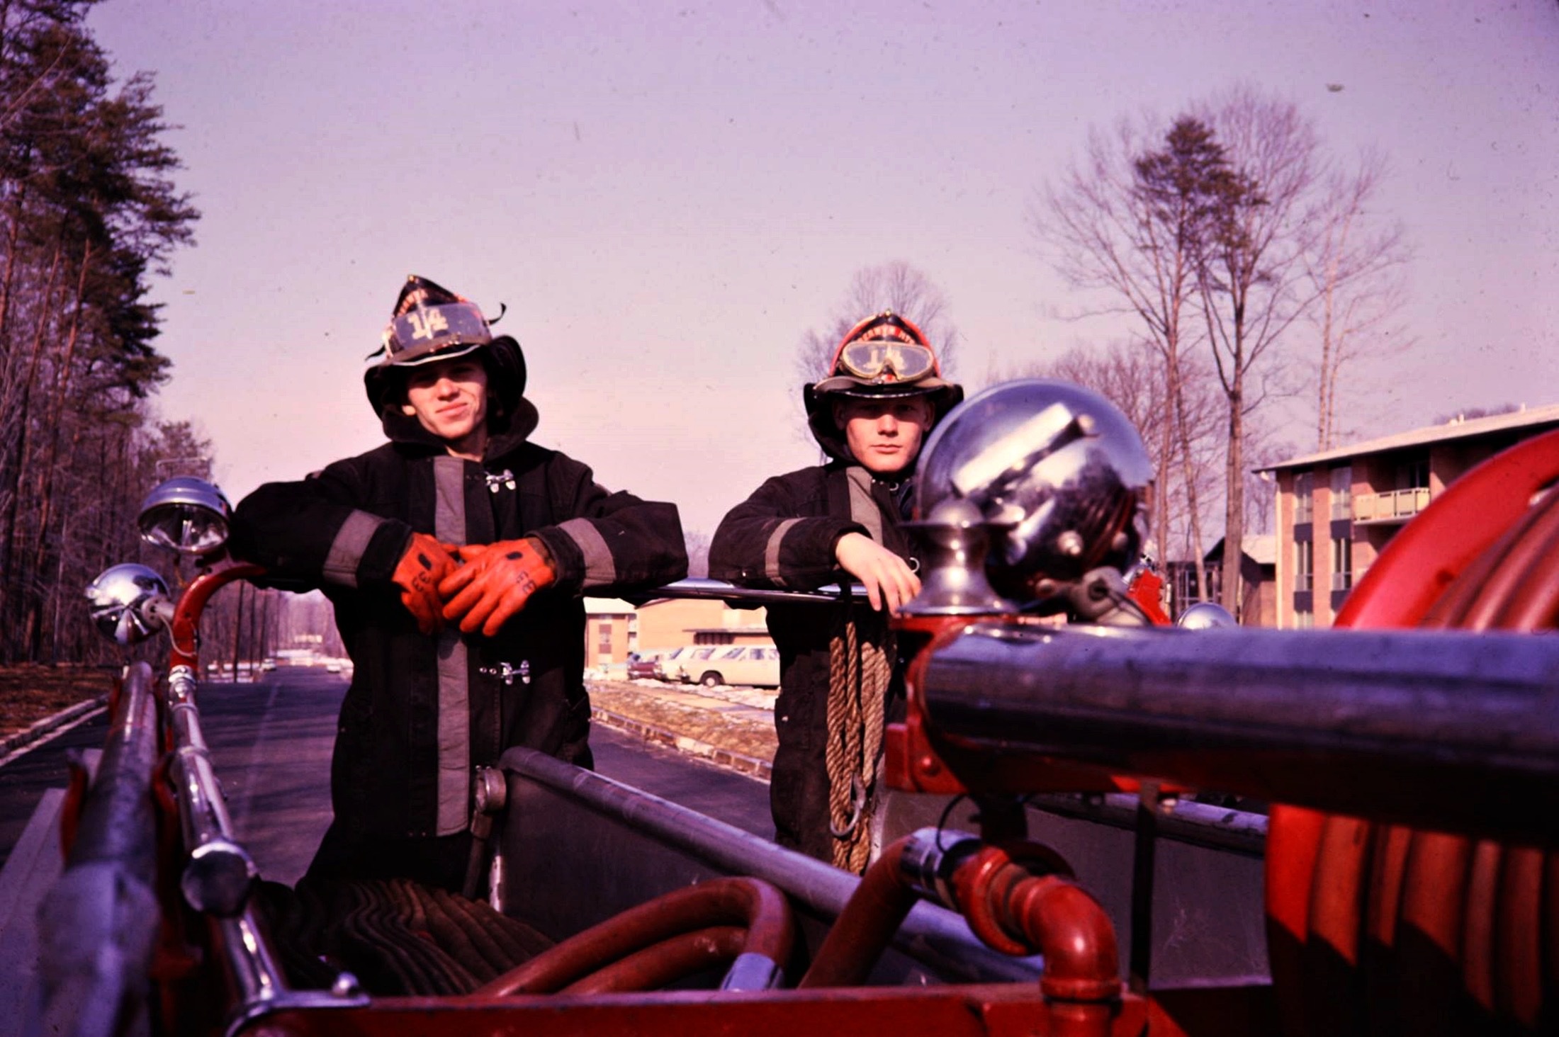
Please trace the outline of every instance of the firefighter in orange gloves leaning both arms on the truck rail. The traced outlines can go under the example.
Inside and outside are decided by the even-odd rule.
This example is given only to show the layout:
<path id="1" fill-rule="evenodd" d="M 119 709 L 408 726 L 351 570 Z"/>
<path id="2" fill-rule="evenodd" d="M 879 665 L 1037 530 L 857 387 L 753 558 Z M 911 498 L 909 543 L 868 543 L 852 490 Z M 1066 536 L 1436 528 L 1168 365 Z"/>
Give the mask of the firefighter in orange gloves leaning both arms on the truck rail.
<path id="1" fill-rule="evenodd" d="M 388 443 L 234 515 L 234 554 L 320 588 L 352 657 L 310 878 L 458 890 L 472 769 L 511 745 L 591 766 L 582 593 L 686 575 L 677 507 L 529 441 L 519 343 L 410 278 L 365 373 Z"/>

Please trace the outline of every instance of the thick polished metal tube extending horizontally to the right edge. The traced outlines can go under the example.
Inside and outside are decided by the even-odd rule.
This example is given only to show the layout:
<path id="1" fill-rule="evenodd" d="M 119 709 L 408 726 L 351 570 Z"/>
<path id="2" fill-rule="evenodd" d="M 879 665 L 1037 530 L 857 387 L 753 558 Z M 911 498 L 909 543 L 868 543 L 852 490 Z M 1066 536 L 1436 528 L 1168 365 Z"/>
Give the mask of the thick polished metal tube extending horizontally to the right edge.
<path id="1" fill-rule="evenodd" d="M 1479 836 L 1559 834 L 1559 639 L 976 622 L 918 686 L 971 753 Z"/>

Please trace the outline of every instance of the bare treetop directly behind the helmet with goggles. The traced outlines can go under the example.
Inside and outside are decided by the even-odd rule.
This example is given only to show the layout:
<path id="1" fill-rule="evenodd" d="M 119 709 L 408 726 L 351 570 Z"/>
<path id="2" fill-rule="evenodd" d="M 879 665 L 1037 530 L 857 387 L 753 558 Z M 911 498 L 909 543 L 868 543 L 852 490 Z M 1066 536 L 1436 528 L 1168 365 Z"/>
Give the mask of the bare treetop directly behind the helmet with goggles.
<path id="1" fill-rule="evenodd" d="M 926 332 L 942 362 L 942 373 L 951 374 L 959 331 L 948 317 L 948 296 L 917 267 L 895 259 L 857 270 L 823 329 L 808 329 L 801 335 L 795 354 L 795 373 L 801 382 L 823 377 L 845 334 L 861 320 L 882 310 L 893 310 Z"/>

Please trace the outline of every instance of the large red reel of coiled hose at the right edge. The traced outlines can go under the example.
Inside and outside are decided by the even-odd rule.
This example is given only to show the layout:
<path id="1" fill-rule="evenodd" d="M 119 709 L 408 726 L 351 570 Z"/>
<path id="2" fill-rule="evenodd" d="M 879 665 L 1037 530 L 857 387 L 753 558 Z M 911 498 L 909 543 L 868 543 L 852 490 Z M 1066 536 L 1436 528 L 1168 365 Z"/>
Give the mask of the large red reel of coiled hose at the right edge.
<path id="1" fill-rule="evenodd" d="M 1559 432 L 1478 466 L 1392 541 L 1336 625 L 1553 628 L 1556 479 Z M 1545 1025 L 1556 890 L 1559 858 L 1539 848 L 1275 806 L 1267 942 L 1288 1032 Z"/>

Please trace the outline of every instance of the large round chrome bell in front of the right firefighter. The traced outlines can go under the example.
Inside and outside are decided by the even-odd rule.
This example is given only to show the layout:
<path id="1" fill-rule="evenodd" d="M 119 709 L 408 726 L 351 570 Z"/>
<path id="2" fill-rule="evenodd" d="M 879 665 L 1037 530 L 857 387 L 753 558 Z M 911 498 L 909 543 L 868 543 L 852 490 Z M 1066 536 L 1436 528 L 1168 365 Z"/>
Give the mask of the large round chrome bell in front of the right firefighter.
<path id="1" fill-rule="evenodd" d="M 915 513 L 973 504 L 993 532 L 998 593 L 1035 600 L 1099 568 L 1126 571 L 1147 532 L 1152 460 L 1137 429 L 1091 390 L 1026 379 L 956 407 L 921 455 Z"/>

